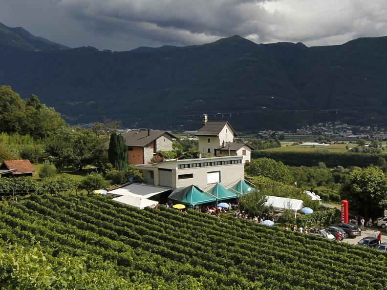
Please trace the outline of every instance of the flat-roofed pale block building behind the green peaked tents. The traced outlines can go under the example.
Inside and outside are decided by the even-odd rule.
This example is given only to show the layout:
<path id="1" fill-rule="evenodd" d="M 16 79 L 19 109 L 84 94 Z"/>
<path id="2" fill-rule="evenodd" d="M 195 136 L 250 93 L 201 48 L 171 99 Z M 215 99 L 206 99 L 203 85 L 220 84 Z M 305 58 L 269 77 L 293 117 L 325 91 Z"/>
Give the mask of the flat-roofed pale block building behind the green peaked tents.
<path id="1" fill-rule="evenodd" d="M 135 165 L 143 171 L 148 185 L 164 186 L 172 189 L 196 185 L 203 190 L 217 182 L 234 186 L 244 178 L 243 156 L 213 158 L 172 159 L 160 163 Z"/>

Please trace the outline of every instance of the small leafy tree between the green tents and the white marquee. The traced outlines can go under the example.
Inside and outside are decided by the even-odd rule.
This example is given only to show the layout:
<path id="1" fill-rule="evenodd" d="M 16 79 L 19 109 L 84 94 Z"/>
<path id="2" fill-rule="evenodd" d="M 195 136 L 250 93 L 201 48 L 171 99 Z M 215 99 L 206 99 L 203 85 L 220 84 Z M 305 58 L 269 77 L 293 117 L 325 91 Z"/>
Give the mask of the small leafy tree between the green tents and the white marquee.
<path id="1" fill-rule="evenodd" d="M 258 190 L 239 199 L 239 208 L 250 216 L 267 215 L 273 211 L 272 206 L 266 205 L 267 197 Z"/>

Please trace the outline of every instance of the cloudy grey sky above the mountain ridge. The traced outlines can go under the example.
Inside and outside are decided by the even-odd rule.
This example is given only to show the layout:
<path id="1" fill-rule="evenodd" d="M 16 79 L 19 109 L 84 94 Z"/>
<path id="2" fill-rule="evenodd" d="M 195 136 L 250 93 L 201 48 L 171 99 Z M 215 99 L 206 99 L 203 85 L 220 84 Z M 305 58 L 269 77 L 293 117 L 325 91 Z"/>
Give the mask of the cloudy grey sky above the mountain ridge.
<path id="1" fill-rule="evenodd" d="M 385 0 L 0 0 L 0 22 L 70 47 L 130 50 L 240 35 L 342 44 L 387 35 Z"/>

